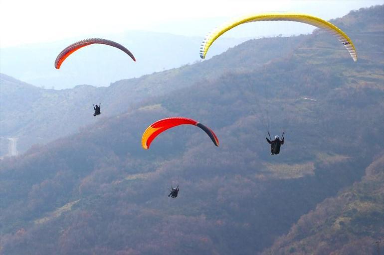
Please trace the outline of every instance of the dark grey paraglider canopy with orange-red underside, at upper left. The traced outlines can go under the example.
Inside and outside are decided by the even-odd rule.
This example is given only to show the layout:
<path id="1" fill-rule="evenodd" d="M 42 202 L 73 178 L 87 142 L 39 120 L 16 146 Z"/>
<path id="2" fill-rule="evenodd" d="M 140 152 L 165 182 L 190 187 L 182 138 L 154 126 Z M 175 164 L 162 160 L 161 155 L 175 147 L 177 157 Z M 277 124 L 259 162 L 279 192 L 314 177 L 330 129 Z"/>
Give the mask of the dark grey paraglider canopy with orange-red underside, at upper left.
<path id="1" fill-rule="evenodd" d="M 75 51 L 77 51 L 77 50 L 79 50 L 85 46 L 88 46 L 90 44 L 105 44 L 105 45 L 109 45 L 109 46 L 118 48 L 118 49 L 124 51 L 126 54 L 128 54 L 132 58 L 133 61 L 136 61 L 133 54 L 127 48 L 125 48 L 123 45 L 118 44 L 118 43 L 113 42 L 113 41 L 110 41 L 110 40 L 107 40 L 107 39 L 91 38 L 91 39 L 85 39 L 82 41 L 75 42 L 75 43 L 69 45 L 68 47 L 66 47 L 64 50 L 62 50 L 56 58 L 55 68 L 60 69 L 61 64 L 64 62 L 64 60 L 69 55 L 71 55 Z"/>

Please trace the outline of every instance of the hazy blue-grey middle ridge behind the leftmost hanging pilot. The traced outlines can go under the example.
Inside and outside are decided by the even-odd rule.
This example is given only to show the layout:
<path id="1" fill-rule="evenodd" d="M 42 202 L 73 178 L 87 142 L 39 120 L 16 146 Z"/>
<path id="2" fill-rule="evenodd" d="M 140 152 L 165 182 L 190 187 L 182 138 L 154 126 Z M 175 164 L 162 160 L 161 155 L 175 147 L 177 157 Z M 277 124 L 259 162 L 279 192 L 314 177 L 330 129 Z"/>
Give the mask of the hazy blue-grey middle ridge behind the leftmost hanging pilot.
<path id="1" fill-rule="evenodd" d="M 287 56 L 303 39 L 304 36 L 252 40 L 211 60 L 118 81 L 109 87 L 78 85 L 63 90 L 42 89 L 0 74 L 0 136 L 19 138 L 18 150 L 23 152 L 33 144 L 44 144 L 95 123 L 98 117 L 92 116 L 92 103 L 102 103 L 102 117 L 125 112 L 142 100 L 198 81 L 213 80 L 228 70 L 260 68 L 272 59 Z M 285 47 L 279 47 L 281 44 Z M 253 50 L 250 55 L 249 48 L 263 50 Z"/>

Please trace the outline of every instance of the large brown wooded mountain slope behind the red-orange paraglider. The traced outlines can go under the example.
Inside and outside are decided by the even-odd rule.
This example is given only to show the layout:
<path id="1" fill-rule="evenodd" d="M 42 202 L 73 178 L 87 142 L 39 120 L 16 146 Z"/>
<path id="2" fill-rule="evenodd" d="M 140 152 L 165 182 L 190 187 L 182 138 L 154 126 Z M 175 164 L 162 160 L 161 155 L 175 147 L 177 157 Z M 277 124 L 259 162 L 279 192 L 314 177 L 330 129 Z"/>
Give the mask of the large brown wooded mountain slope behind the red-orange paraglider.
<path id="1" fill-rule="evenodd" d="M 261 254 L 366 169 L 376 173 L 369 166 L 373 151 L 384 150 L 381 55 L 363 52 L 353 63 L 348 52 L 329 53 L 342 47 L 335 38 L 315 33 L 306 44 L 325 49 L 301 44 L 259 68 L 248 64 L 253 43 L 240 46 L 249 54 L 237 54 L 236 64 L 229 58 L 234 69 L 206 68 L 216 76 L 1 161 L 1 253 Z M 278 156 L 265 142 L 267 111 L 272 135 L 287 131 Z M 150 123 L 176 115 L 212 128 L 220 147 L 192 126 L 140 147 Z M 171 200 L 167 186 L 177 184 Z"/>

